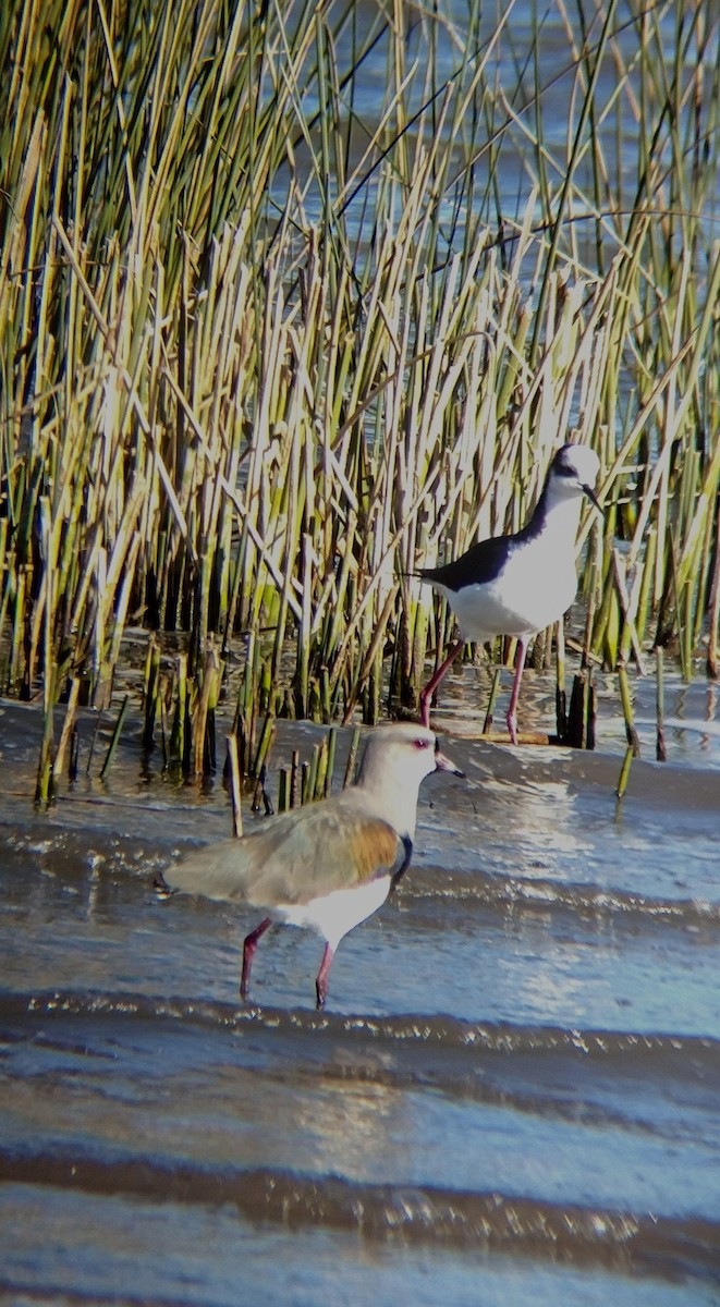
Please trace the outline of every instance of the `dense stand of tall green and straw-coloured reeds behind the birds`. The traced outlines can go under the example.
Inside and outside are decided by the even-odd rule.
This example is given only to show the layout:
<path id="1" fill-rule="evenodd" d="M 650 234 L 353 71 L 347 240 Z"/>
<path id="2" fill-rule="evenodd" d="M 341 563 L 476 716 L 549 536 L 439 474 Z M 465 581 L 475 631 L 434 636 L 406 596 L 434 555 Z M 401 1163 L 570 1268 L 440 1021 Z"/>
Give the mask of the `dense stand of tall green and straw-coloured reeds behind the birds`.
<path id="1" fill-rule="evenodd" d="M 566 438 L 608 507 L 585 663 L 717 674 L 720 14 L 549 12 L 3 7 L 3 690 L 43 695 L 41 795 L 128 626 L 187 633 L 145 677 L 186 771 L 238 648 L 244 770 L 265 718 L 412 710 L 450 633 L 405 574 L 521 524 Z"/>

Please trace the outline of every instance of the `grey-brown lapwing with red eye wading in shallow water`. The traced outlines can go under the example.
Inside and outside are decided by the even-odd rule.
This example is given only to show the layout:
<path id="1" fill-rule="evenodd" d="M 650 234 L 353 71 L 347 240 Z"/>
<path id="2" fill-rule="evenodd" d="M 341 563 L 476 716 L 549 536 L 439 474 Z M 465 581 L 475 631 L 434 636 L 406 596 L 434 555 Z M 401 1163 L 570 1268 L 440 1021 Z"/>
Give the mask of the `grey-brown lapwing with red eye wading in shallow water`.
<path id="1" fill-rule="evenodd" d="M 418 789 L 433 771 L 463 772 L 419 723 L 378 727 L 354 786 L 269 817 L 260 830 L 191 853 L 155 881 L 257 908 L 263 918 L 243 945 L 240 993 L 247 999 L 257 941 L 278 921 L 314 929 L 325 941 L 315 983 L 318 1006 L 340 940 L 385 902 L 413 852 Z"/>

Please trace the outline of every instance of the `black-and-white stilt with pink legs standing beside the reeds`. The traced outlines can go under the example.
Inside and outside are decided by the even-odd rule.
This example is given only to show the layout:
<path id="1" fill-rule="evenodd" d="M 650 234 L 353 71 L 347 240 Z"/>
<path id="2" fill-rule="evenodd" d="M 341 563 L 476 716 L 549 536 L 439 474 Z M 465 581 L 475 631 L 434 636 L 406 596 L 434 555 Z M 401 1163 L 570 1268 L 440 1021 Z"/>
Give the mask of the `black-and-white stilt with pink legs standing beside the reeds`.
<path id="1" fill-rule="evenodd" d="M 451 646 L 419 697 L 426 725 L 430 724 L 433 694 L 465 643 L 512 635 L 517 639 L 517 657 L 507 729 L 512 744 L 517 744 L 517 695 L 528 642 L 557 622 L 575 599 L 580 505 L 587 495 L 600 508 L 595 495 L 598 472 L 600 459 L 595 450 L 587 444 L 563 444 L 553 457 L 534 512 L 521 531 L 481 540 L 444 567 L 422 567 L 416 572 L 446 596 L 460 625 L 460 639 Z"/>

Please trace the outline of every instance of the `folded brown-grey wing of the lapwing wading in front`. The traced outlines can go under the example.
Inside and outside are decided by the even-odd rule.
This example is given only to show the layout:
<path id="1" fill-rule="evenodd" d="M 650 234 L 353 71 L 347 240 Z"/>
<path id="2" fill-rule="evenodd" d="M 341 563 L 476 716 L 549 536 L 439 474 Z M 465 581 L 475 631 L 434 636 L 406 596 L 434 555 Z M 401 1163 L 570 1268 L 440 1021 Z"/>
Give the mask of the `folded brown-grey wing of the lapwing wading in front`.
<path id="1" fill-rule="evenodd" d="M 319 802 L 270 817 L 243 839 L 208 844 L 163 878 L 172 890 L 272 907 L 362 885 L 404 860 L 405 846 L 385 821 Z"/>

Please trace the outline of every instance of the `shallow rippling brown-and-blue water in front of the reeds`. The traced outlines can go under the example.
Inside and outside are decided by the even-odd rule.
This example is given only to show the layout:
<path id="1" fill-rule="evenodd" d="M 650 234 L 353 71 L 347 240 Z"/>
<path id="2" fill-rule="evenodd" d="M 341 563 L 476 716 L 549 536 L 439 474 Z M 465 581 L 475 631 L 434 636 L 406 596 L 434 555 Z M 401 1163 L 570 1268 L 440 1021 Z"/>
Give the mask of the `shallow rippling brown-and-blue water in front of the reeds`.
<path id="1" fill-rule="evenodd" d="M 448 715 L 466 780 L 318 1014 L 320 941 L 270 932 L 244 1006 L 254 919 L 152 891 L 229 834 L 220 780 L 131 733 L 39 813 L 3 708 L 1 1300 L 720 1300 L 720 771 L 635 761 L 618 804 L 617 752 Z"/>

